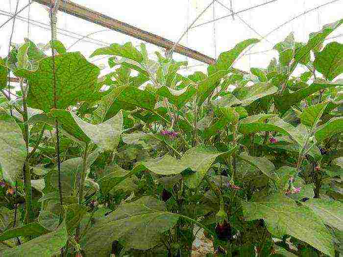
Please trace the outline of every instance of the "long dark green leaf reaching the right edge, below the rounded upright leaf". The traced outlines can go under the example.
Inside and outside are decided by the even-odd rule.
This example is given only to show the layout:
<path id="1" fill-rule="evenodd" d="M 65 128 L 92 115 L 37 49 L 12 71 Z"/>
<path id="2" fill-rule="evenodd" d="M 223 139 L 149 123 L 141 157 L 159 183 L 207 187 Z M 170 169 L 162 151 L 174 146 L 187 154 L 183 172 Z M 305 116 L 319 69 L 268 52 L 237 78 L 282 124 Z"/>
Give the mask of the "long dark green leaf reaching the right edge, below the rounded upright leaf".
<path id="1" fill-rule="evenodd" d="M 297 104 L 302 99 L 305 99 L 307 96 L 310 96 L 313 93 L 318 92 L 319 90 L 342 86 L 343 81 L 338 80 L 336 82 L 327 82 L 325 80 L 315 80 L 309 87 L 300 89 L 295 91 L 294 93 L 284 93 L 281 96 L 274 96 L 274 101 L 277 109 L 281 113 L 281 115 L 285 114 L 285 112 L 291 108 L 292 105 Z"/>

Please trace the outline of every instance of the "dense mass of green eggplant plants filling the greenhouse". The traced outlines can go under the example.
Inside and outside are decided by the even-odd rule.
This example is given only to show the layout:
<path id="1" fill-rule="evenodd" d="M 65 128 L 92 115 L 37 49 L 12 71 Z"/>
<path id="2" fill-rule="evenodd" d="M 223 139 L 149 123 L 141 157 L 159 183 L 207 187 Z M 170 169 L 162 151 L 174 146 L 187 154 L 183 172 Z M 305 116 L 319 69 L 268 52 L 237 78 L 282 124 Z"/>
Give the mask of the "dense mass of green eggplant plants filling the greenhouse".
<path id="1" fill-rule="evenodd" d="M 190 256 L 198 228 L 215 256 L 339 256 L 343 45 L 324 40 L 342 23 L 289 35 L 266 69 L 233 68 L 249 39 L 187 77 L 144 44 L 95 50 L 102 77 L 61 42 L 13 46 L 1 256 Z"/>

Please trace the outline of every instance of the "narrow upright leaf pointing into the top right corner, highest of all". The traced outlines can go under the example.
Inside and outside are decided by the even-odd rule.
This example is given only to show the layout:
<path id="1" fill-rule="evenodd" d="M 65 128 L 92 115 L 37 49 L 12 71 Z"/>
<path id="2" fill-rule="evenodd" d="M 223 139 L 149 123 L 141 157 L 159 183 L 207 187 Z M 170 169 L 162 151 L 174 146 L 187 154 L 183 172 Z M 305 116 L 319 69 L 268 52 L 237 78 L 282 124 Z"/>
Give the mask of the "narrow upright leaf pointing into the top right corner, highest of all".
<path id="1" fill-rule="evenodd" d="M 323 26 L 323 28 L 315 33 L 312 33 L 312 37 L 310 37 L 309 41 L 307 44 L 303 47 L 300 47 L 297 49 L 294 55 L 294 63 L 292 65 L 292 68 L 294 69 L 295 66 L 306 56 L 308 55 L 311 50 L 315 49 L 318 47 L 324 40 L 325 38 L 333 32 L 336 28 L 338 28 L 341 24 L 343 23 L 343 19 L 339 20 L 335 23 L 330 23 L 326 24 Z M 292 70 L 293 70 L 292 69 Z"/>

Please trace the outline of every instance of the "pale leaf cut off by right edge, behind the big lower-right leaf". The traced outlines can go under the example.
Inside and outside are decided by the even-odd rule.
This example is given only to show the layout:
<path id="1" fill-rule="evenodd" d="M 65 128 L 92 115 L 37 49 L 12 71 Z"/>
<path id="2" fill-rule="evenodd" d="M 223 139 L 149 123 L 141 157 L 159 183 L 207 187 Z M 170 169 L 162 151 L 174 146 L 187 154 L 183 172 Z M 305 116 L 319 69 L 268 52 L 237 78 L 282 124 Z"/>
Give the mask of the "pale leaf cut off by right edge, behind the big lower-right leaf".
<path id="1" fill-rule="evenodd" d="M 324 223 L 343 231 L 343 204 L 328 199 L 310 199 L 304 203 L 313 210 Z"/>

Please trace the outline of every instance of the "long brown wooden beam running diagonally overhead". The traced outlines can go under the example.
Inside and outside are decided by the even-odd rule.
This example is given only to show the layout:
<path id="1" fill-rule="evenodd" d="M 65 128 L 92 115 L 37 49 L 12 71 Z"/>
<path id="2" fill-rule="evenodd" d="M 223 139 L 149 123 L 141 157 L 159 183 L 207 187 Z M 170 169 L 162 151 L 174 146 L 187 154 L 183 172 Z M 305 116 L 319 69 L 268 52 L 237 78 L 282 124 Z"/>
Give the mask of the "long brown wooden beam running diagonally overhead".
<path id="1" fill-rule="evenodd" d="M 34 1 L 44 4 L 48 7 L 50 7 L 50 4 L 51 4 L 51 0 L 34 0 Z M 58 9 L 62 12 L 71 14 L 80 19 L 86 20 L 91 23 L 96 23 L 106 28 L 116 30 L 118 32 L 129 35 L 131 37 L 143 40 L 147 43 L 166 48 L 167 50 L 172 49 L 175 45 L 174 42 L 168 39 L 152 34 L 150 32 L 147 32 L 145 30 L 142 30 L 130 24 L 123 23 L 121 21 L 118 21 L 106 15 L 103 15 L 94 10 L 88 9 L 82 5 L 73 3 L 72 1 L 69 1 L 69 0 L 61 0 Z M 190 49 L 188 47 L 184 47 L 180 44 L 176 44 L 176 46 L 173 49 L 174 49 L 174 52 L 188 56 L 192 59 L 198 60 L 203 63 L 213 64 L 215 62 L 215 59 L 205 54 L 202 54 L 196 50 Z"/>

